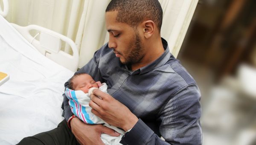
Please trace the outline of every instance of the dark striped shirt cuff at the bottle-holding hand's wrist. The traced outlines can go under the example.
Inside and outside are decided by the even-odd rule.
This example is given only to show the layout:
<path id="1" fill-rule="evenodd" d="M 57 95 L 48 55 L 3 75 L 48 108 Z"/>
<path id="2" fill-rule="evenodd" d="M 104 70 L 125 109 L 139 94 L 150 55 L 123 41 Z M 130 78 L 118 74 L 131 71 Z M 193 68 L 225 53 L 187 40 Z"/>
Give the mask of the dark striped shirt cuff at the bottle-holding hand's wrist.
<path id="1" fill-rule="evenodd" d="M 141 119 L 134 125 L 134 127 L 127 133 L 120 141 L 123 145 L 144 145 L 148 142 L 150 137 L 154 134 Z"/>

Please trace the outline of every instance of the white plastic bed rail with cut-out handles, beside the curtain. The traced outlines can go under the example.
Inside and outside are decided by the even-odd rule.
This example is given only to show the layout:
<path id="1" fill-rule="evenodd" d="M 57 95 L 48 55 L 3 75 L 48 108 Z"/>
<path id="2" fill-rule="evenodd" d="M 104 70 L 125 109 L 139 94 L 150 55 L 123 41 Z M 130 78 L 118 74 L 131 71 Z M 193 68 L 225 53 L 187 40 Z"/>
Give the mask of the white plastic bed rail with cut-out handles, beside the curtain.
<path id="1" fill-rule="evenodd" d="M 15 23 L 11 24 L 27 41 L 29 41 L 29 43 L 35 46 L 41 54 L 73 72 L 77 71 L 79 53 L 76 44 L 70 38 L 38 25 L 19 26 Z M 33 37 L 29 33 L 31 30 L 39 31 L 39 41 L 35 39 L 37 35 Z M 73 55 L 61 50 L 61 41 L 70 45 Z"/>

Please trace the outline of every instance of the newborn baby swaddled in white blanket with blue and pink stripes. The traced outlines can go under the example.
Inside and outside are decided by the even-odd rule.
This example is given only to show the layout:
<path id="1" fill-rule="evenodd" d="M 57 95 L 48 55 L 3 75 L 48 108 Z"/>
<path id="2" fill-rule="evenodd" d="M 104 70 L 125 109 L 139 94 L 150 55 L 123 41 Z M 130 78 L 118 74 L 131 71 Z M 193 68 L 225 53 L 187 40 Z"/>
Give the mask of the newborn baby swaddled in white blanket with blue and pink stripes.
<path id="1" fill-rule="evenodd" d="M 125 133 L 122 129 L 109 125 L 98 116 L 91 113 L 91 107 L 89 106 L 90 94 L 94 89 L 99 89 L 104 93 L 107 93 L 107 84 L 100 81 L 94 81 L 93 78 L 86 73 L 79 73 L 70 78 L 69 88 L 66 88 L 65 94 L 69 99 L 71 111 L 88 124 L 104 124 L 104 126 L 115 130 L 120 133 L 120 136 L 110 136 L 102 133 L 101 139 L 105 145 L 121 145 L 119 142 Z"/>

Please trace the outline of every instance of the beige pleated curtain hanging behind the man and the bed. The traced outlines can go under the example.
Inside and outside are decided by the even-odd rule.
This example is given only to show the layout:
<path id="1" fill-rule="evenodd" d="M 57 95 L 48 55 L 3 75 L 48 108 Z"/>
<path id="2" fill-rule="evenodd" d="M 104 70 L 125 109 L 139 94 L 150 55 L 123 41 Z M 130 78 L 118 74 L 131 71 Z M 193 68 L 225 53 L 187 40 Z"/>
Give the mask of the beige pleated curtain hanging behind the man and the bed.
<path id="1" fill-rule="evenodd" d="M 1 0 L 0 0 L 1 1 Z M 20 26 L 36 24 L 71 38 L 79 49 L 79 68 L 108 42 L 105 9 L 110 0 L 9 0 L 6 19 Z M 163 8 L 161 35 L 177 56 L 198 0 L 159 0 Z M 65 52 L 70 48 L 64 45 Z"/>

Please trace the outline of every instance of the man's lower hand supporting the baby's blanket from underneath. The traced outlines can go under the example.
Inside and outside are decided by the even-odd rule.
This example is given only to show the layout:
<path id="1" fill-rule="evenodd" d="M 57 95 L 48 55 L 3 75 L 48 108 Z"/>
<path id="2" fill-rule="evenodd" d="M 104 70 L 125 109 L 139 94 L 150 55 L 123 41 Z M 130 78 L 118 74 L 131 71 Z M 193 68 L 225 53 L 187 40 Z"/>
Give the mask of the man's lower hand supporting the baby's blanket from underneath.
<path id="1" fill-rule="evenodd" d="M 72 133 L 76 136 L 81 145 L 104 145 L 100 136 L 106 133 L 110 136 L 119 136 L 120 134 L 111 128 L 103 125 L 89 125 L 75 117 L 70 121 Z"/>

